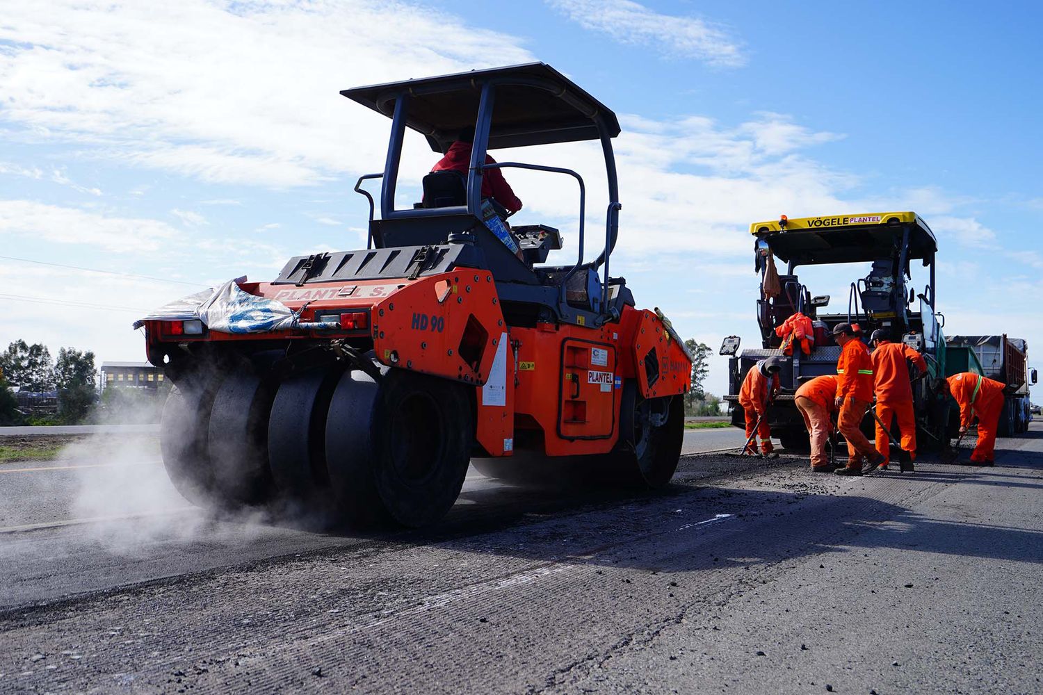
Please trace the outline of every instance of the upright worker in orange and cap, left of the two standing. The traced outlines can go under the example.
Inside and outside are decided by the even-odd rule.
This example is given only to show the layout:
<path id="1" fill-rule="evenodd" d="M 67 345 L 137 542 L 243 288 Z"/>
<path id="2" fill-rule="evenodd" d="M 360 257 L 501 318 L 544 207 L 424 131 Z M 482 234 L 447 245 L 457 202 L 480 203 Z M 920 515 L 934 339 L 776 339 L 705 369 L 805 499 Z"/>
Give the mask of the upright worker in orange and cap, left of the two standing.
<path id="1" fill-rule="evenodd" d="M 840 411 L 836 428 L 848 443 L 848 464 L 836 469 L 838 475 L 862 475 L 863 461 L 869 462 L 869 473 L 884 462 L 883 456 L 873 448 L 862 433 L 862 419 L 873 402 L 873 361 L 869 348 L 862 342 L 862 330 L 857 324 L 836 324 L 833 339 L 841 346 L 841 357 L 836 362 L 836 398 L 834 404 Z"/>

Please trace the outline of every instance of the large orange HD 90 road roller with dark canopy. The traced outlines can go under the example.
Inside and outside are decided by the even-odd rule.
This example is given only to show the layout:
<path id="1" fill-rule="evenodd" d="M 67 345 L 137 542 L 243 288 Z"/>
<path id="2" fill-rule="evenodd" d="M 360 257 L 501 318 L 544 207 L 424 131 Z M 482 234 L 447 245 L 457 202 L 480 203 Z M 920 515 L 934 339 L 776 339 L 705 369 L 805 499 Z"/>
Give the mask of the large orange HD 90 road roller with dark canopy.
<path id="1" fill-rule="evenodd" d="M 136 324 L 176 387 L 161 445 L 181 494 L 422 526 L 454 504 L 469 462 L 507 480 L 588 467 L 666 485 L 692 357 L 609 273 L 615 114 L 542 63 L 341 94 L 390 119 L 383 170 L 355 185 L 368 201 L 366 248 L 295 256 L 271 281 L 231 280 Z M 420 200 L 403 206 L 406 138 L 441 156 L 461 132 L 472 135 L 468 170 L 425 175 Z M 607 178 L 593 240 L 580 173 L 486 158 L 580 141 L 600 144 Z M 562 233 L 509 224 L 483 197 L 496 168 L 575 185 L 575 256 L 549 264 Z"/>

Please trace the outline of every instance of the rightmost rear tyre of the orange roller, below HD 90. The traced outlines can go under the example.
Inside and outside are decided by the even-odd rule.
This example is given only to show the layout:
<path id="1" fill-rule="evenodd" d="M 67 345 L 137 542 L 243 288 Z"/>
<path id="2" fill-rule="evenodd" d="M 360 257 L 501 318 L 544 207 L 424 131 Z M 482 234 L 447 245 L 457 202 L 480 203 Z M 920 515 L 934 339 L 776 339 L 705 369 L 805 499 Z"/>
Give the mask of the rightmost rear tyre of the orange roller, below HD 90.
<path id="1" fill-rule="evenodd" d="M 466 388 L 389 370 L 379 383 L 341 377 L 326 419 L 326 466 L 345 515 L 432 524 L 453 506 L 467 474 L 474 416 Z"/>

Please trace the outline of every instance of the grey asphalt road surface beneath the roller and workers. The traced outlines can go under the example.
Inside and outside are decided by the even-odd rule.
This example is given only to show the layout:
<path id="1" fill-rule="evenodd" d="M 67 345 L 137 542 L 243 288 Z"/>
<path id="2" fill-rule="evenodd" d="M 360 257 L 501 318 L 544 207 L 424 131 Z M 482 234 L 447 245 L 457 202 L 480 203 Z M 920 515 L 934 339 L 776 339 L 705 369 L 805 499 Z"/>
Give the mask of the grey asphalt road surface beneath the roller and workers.
<path id="1" fill-rule="evenodd" d="M 648 495 L 472 472 L 436 528 L 369 535 L 210 518 L 139 448 L 0 466 L 0 692 L 1043 690 L 1039 423 L 995 468 L 913 475 L 697 454 Z"/>

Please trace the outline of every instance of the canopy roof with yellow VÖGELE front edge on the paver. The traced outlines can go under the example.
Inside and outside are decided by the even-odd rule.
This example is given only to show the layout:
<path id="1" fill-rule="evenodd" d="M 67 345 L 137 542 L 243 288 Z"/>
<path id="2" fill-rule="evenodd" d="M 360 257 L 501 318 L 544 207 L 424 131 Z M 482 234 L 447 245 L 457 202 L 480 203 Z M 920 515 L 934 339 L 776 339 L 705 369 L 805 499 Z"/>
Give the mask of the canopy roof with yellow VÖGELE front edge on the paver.
<path id="1" fill-rule="evenodd" d="M 927 265 L 938 250 L 930 227 L 916 213 L 868 213 L 754 222 L 750 233 L 768 242 L 772 252 L 798 266 L 858 263 L 888 258 L 909 228 L 908 257 Z"/>

